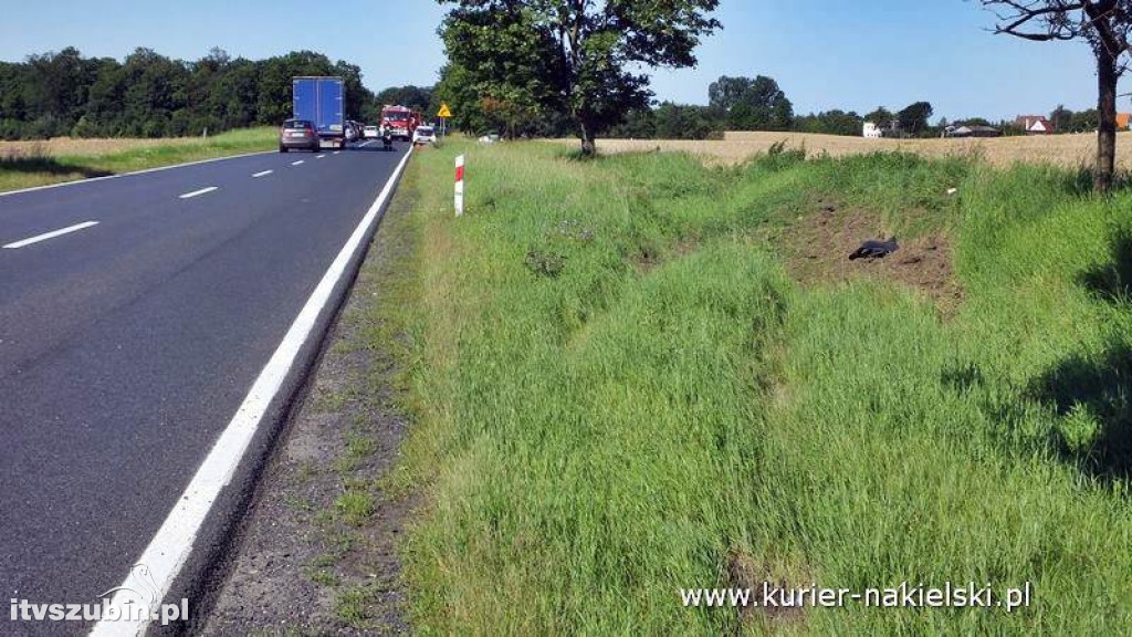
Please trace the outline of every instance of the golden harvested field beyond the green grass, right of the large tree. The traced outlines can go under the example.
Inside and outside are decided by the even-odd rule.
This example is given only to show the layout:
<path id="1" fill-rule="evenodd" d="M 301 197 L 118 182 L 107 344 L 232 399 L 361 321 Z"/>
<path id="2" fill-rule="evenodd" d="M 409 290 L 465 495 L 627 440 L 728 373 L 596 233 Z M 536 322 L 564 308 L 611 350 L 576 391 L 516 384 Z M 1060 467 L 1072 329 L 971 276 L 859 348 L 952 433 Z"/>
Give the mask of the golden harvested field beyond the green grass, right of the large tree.
<path id="1" fill-rule="evenodd" d="M 568 142 L 576 144 L 573 139 Z M 992 139 L 866 139 L 807 133 L 732 131 L 722 141 L 598 139 L 598 150 L 602 153 L 683 151 L 701 155 L 709 163 L 734 164 L 765 153 L 779 142 L 786 142 L 788 148 L 805 147 L 809 153 L 824 152 L 831 156 L 904 151 L 934 158 L 975 155 L 1001 167 L 1014 163 L 1052 163 L 1064 168 L 1091 165 L 1097 148 L 1096 136 L 1088 133 Z M 1132 169 L 1132 133 L 1117 135 L 1116 164 L 1123 170 Z"/>

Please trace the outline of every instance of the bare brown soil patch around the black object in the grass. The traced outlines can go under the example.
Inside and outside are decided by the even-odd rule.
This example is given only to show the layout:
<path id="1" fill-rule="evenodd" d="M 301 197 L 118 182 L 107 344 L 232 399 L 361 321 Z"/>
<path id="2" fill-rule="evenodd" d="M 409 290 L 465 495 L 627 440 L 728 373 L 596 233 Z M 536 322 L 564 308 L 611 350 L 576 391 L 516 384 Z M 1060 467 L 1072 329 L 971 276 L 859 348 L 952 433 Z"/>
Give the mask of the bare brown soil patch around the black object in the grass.
<path id="1" fill-rule="evenodd" d="M 880 216 L 817 199 L 814 212 L 783 232 L 787 267 L 803 283 L 841 283 L 859 278 L 897 281 L 929 296 L 947 313 L 962 299 L 951 264 L 951 241 L 945 233 L 910 240 L 883 258 L 849 260 L 867 239 L 886 239 Z"/>

